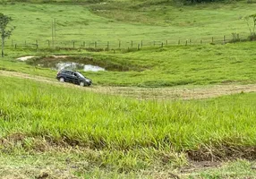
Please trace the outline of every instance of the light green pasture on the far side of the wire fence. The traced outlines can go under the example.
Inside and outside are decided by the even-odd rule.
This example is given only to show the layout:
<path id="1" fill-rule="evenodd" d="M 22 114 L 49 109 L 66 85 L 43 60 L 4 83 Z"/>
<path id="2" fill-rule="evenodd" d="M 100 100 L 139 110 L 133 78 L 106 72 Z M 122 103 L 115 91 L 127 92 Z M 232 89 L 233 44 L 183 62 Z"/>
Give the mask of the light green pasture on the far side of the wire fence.
<path id="1" fill-rule="evenodd" d="M 50 2 L 50 1 L 49 1 Z M 52 40 L 55 19 L 55 46 L 137 47 L 182 44 L 185 40 L 199 44 L 232 38 L 232 33 L 247 38 L 249 30 L 243 17 L 255 13 L 256 4 L 245 1 L 230 4 L 196 4 L 177 6 L 150 1 L 113 1 L 98 4 L 75 3 L 7 3 L 0 12 L 13 17 L 13 46 L 35 44 L 47 47 Z M 7 45 L 11 45 L 11 39 Z M 52 43 L 50 42 L 50 45 Z"/>

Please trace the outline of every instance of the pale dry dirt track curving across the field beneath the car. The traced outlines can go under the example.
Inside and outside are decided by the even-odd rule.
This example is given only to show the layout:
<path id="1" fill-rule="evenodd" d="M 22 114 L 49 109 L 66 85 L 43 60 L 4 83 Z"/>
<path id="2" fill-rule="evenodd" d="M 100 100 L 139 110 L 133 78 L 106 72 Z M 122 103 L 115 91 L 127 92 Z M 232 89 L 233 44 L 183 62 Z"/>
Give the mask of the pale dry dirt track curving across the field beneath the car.
<path id="1" fill-rule="evenodd" d="M 192 98 L 214 98 L 223 95 L 230 95 L 241 92 L 255 92 L 256 84 L 223 84 L 215 86 L 193 86 L 193 87 L 174 87 L 174 88 L 138 88 L 138 87 L 104 87 L 92 86 L 90 88 L 81 88 L 69 83 L 60 83 L 55 79 L 30 75 L 21 72 L 7 72 L 0 71 L 0 75 L 7 77 L 17 77 L 22 79 L 30 79 L 33 81 L 47 82 L 54 85 L 62 85 L 67 88 L 77 88 L 81 90 L 94 91 L 97 93 L 122 95 L 125 97 L 139 98 L 139 99 L 192 99 Z"/>

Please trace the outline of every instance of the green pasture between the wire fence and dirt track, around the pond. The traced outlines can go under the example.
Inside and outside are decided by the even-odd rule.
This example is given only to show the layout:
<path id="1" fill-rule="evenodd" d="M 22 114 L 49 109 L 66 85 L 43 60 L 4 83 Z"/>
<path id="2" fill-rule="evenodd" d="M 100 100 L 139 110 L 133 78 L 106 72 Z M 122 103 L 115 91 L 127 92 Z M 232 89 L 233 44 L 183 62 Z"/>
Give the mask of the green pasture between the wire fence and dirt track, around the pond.
<path id="1" fill-rule="evenodd" d="M 226 45 L 198 45 L 175 47 L 147 47 L 133 52 L 87 52 L 81 50 L 6 50 L 0 62 L 5 70 L 26 72 L 55 78 L 56 71 L 39 67 L 40 62 L 18 62 L 22 55 L 71 55 L 71 59 L 107 68 L 107 72 L 83 72 L 95 85 L 172 87 L 178 85 L 209 85 L 219 83 L 253 83 L 255 81 L 255 43 Z M 39 57 L 40 59 L 40 57 Z M 42 63 L 42 62 L 41 62 Z M 112 67 L 114 69 L 112 69 Z M 115 69 L 117 67 L 117 69 Z M 108 70 L 110 68 L 110 70 Z M 124 69 L 124 71 L 122 70 Z"/>

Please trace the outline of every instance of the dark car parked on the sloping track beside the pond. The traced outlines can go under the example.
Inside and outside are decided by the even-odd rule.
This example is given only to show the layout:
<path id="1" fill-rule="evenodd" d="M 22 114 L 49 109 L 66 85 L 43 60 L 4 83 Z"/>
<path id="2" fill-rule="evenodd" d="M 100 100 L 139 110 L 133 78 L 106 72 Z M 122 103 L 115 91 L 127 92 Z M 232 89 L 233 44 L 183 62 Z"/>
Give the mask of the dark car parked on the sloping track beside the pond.
<path id="1" fill-rule="evenodd" d="M 73 72 L 70 70 L 61 70 L 57 73 L 56 79 L 61 82 L 72 82 L 80 86 L 90 86 L 92 81 L 83 76 L 80 72 Z"/>

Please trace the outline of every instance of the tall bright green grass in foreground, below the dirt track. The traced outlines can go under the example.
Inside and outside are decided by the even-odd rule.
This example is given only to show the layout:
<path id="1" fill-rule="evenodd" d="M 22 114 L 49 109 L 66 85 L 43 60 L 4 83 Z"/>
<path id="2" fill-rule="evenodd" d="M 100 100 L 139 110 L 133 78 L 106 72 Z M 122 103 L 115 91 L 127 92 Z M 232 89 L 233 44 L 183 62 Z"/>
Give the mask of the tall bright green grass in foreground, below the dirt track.
<path id="1" fill-rule="evenodd" d="M 254 93 L 157 102 L 7 77 L 0 81 L 1 138 L 20 132 L 90 149 L 188 153 L 256 144 Z"/>

